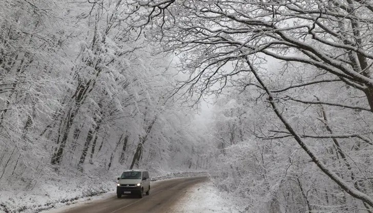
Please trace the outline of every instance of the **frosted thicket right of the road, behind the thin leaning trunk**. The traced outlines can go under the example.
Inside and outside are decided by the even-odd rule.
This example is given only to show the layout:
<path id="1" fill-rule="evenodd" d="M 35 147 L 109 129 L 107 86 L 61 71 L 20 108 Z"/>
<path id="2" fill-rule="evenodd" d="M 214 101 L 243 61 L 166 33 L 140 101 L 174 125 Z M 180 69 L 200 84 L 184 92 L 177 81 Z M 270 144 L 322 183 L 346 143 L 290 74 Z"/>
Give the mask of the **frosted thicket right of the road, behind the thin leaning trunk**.
<path id="1" fill-rule="evenodd" d="M 273 73 L 277 71 L 272 70 Z M 291 71 L 289 69 L 288 71 Z M 302 74 L 302 81 L 314 71 Z M 299 83 L 292 72 L 268 84 L 282 84 L 282 79 Z M 349 102 L 361 93 L 341 83 L 308 86 L 286 92 L 313 101 Z M 320 171 L 315 162 L 302 152 L 294 139 L 282 130 L 283 125 L 260 98 L 260 90 L 224 96 L 215 105 L 214 129 L 220 152 L 215 156 L 214 182 L 247 212 L 360 212 L 363 203 Z M 358 101 L 357 103 L 359 103 Z M 369 194 L 373 174 L 369 154 L 369 112 L 356 109 L 300 104 L 279 99 L 282 115 L 300 133 L 312 151 L 354 187 Z M 353 104 L 351 102 L 351 104 Z M 360 210 L 359 210 L 360 209 Z"/>

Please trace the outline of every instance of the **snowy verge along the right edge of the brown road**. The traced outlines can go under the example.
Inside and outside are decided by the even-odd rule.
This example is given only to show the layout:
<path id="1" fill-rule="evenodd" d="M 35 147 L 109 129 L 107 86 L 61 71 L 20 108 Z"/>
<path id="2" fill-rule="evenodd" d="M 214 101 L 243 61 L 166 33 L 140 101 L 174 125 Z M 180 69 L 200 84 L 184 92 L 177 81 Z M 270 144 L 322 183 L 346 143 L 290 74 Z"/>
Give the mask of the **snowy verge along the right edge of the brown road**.
<path id="1" fill-rule="evenodd" d="M 232 203 L 221 197 L 213 182 L 197 183 L 166 213 L 238 213 Z"/>

